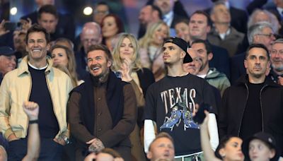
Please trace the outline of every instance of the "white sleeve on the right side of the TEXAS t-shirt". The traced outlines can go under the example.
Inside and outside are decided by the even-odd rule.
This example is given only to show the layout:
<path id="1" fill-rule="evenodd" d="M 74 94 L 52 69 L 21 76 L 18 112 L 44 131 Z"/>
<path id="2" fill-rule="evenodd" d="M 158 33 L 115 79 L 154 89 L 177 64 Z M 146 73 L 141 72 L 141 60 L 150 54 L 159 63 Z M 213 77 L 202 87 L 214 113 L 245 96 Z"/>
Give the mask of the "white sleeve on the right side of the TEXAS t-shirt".
<path id="1" fill-rule="evenodd" d="M 209 113 L 208 132 L 210 138 L 210 145 L 212 146 L 212 149 L 215 151 L 219 144 L 219 136 L 218 136 L 217 123 L 216 123 L 216 116 L 213 113 Z"/>

